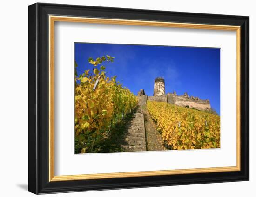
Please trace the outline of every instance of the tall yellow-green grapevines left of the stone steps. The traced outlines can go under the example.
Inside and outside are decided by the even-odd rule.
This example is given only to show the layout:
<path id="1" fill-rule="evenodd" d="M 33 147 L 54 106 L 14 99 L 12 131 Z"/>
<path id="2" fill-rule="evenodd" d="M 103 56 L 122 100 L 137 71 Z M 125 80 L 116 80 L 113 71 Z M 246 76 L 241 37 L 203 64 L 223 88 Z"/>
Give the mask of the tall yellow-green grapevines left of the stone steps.
<path id="1" fill-rule="evenodd" d="M 113 60 L 111 56 L 89 58 L 92 71 L 75 76 L 75 153 L 100 151 L 112 128 L 137 105 L 136 96 L 116 82 L 116 76 L 106 76 L 102 63 Z"/>

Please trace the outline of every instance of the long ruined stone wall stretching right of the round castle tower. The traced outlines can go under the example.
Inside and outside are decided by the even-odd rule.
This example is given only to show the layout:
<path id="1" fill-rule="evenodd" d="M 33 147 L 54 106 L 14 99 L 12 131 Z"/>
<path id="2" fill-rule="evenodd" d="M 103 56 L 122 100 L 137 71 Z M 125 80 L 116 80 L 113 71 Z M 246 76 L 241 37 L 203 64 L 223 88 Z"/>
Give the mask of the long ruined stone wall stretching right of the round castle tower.
<path id="1" fill-rule="evenodd" d="M 203 111 L 209 110 L 211 108 L 209 100 L 202 100 L 198 99 L 197 97 L 194 98 L 187 95 L 178 96 L 173 94 L 167 94 L 167 102 L 182 107 L 189 106 L 189 108 L 195 108 Z"/>

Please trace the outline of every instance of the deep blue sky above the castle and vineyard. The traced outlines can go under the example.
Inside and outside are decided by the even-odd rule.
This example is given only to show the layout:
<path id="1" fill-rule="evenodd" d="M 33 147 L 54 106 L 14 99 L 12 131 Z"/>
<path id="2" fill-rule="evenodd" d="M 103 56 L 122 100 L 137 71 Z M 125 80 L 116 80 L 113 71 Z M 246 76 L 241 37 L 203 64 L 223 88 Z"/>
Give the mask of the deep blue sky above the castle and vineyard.
<path id="1" fill-rule="evenodd" d="M 107 76 L 117 76 L 117 81 L 135 95 L 144 89 L 153 95 L 154 80 L 165 79 L 166 93 L 197 96 L 209 99 L 212 108 L 220 114 L 220 49 L 198 47 L 173 47 L 129 44 L 75 43 L 75 61 L 78 74 L 92 69 L 88 58 L 115 57 L 106 66 Z"/>

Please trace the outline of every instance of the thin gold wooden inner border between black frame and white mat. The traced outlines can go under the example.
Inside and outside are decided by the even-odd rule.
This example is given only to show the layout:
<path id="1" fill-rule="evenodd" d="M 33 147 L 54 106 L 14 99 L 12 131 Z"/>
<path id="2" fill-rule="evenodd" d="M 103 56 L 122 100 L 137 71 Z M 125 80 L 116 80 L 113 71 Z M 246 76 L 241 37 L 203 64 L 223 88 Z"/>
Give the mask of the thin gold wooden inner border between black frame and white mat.
<path id="1" fill-rule="evenodd" d="M 82 174 L 54 176 L 54 22 L 82 22 L 97 24 L 115 24 L 115 25 L 141 25 L 141 26 L 162 26 L 174 28 L 190 29 L 210 29 L 210 30 L 230 30 L 236 31 L 236 166 L 231 167 L 213 167 L 213 168 L 196 168 L 182 170 L 161 170 L 161 171 L 143 171 L 143 172 L 118 172 L 118 173 L 101 173 L 101 174 Z M 207 172 L 232 172 L 241 170 L 241 28 L 232 25 L 207 25 L 192 23 L 173 23 L 144 20 L 126 20 L 126 19 L 101 19 L 85 17 L 67 17 L 67 16 L 48 16 L 49 22 L 49 182 L 54 181 L 71 181 L 100 178 L 125 178 L 125 177 L 145 177 L 158 175 L 175 175 Z"/>

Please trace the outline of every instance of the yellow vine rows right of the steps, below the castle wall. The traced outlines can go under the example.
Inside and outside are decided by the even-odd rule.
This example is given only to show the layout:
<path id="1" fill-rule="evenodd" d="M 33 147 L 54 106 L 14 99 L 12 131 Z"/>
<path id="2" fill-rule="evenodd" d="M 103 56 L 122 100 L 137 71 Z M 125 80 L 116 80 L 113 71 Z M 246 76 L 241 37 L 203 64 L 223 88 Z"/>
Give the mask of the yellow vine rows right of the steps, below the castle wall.
<path id="1" fill-rule="evenodd" d="M 155 101 L 147 109 L 168 149 L 220 148 L 220 116 Z"/>

